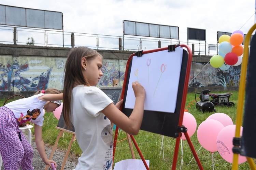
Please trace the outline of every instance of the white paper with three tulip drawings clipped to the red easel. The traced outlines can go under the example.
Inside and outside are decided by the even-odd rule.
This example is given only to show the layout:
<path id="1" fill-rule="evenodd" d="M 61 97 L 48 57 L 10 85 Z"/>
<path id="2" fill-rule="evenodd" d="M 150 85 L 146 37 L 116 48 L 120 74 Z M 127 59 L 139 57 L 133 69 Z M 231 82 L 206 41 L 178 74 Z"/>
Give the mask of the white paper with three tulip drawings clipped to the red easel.
<path id="1" fill-rule="evenodd" d="M 174 113 L 182 56 L 181 47 L 133 56 L 125 108 L 134 107 L 132 82 L 138 81 L 146 91 L 144 110 Z"/>

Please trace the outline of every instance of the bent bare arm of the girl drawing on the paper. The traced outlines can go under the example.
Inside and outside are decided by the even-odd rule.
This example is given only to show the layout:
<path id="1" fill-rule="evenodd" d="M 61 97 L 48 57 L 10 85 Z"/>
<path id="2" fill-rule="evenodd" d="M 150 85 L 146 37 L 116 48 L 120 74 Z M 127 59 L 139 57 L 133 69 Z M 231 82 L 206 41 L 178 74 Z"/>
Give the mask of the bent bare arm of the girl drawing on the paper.
<path id="1" fill-rule="evenodd" d="M 132 83 L 132 88 L 136 101 L 130 117 L 122 113 L 113 103 L 105 107 L 102 112 L 111 122 L 125 132 L 131 135 L 137 135 L 143 119 L 145 89 L 137 81 Z"/>

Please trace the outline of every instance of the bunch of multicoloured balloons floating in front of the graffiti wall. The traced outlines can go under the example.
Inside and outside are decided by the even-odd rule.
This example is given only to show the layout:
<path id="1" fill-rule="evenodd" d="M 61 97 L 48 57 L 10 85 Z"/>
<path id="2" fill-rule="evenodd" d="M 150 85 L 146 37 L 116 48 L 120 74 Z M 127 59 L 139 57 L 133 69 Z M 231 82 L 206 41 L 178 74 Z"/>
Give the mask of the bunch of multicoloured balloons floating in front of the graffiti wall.
<path id="1" fill-rule="evenodd" d="M 240 30 L 234 31 L 231 36 L 222 35 L 219 37 L 218 55 L 210 59 L 210 64 L 214 68 L 227 70 L 230 66 L 238 66 L 242 63 L 242 46 L 244 33 Z"/>

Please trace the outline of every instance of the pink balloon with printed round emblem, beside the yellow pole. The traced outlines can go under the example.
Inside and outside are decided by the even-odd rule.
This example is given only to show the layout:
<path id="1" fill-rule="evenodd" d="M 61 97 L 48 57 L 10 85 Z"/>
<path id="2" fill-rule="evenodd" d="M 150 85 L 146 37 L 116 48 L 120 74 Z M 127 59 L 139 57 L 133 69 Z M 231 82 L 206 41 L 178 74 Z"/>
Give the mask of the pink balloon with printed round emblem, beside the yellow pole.
<path id="1" fill-rule="evenodd" d="M 233 137 L 234 137 L 235 131 L 236 131 L 235 124 L 228 125 L 219 132 L 216 140 L 216 146 L 219 154 L 223 159 L 225 159 L 227 162 L 231 164 L 233 163 L 232 148 L 233 148 Z M 243 127 L 241 126 L 240 136 L 242 136 L 242 132 L 243 132 Z M 238 155 L 238 164 L 242 164 L 246 160 L 247 159 L 245 156 L 241 156 L 240 154 Z"/>

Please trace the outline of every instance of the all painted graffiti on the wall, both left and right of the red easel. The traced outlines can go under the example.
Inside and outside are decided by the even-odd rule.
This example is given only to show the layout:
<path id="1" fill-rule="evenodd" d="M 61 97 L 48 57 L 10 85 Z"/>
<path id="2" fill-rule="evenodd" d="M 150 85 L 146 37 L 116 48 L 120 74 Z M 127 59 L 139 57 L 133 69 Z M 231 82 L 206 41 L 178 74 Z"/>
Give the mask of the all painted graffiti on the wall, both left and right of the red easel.
<path id="1" fill-rule="evenodd" d="M 0 91 L 37 91 L 46 88 L 63 89 L 65 57 L 0 56 Z M 97 87 L 123 86 L 127 60 L 105 59 L 103 76 Z M 189 87 L 238 87 L 241 66 L 222 71 L 208 63 L 193 62 Z"/>

